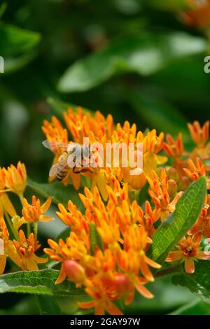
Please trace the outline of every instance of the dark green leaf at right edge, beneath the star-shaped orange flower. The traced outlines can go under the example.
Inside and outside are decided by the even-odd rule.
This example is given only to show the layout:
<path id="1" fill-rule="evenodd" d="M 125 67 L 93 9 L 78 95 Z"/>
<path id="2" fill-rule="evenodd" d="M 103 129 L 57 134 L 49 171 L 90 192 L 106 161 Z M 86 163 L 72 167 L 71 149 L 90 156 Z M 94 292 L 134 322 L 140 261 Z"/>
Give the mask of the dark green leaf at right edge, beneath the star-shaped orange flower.
<path id="1" fill-rule="evenodd" d="M 199 260 L 195 263 L 195 273 L 187 274 L 183 272 L 181 275 L 172 277 L 172 283 L 187 287 L 197 297 L 202 298 L 204 302 L 210 304 L 210 261 Z"/>

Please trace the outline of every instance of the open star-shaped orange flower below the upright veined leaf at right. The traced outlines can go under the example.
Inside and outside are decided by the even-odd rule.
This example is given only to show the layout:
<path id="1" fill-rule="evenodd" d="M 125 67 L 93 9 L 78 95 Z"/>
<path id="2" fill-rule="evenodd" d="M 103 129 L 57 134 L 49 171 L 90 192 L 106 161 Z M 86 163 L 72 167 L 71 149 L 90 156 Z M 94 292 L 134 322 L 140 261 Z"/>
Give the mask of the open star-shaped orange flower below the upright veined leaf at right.
<path id="1" fill-rule="evenodd" d="M 192 274 L 195 272 L 195 260 L 207 260 L 210 258 L 209 252 L 200 251 L 200 243 L 202 241 L 202 234 L 198 232 L 193 237 L 183 237 L 179 242 L 179 250 L 171 251 L 166 259 L 167 262 L 175 262 L 181 260 L 185 262 L 185 270 Z"/>

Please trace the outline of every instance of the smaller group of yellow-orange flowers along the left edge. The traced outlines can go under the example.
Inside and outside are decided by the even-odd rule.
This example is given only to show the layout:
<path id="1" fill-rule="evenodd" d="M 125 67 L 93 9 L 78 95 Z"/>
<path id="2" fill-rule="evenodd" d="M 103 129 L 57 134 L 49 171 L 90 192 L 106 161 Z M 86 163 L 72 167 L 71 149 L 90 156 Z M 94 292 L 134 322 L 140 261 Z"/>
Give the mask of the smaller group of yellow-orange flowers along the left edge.
<path id="1" fill-rule="evenodd" d="M 28 226 L 28 237 L 25 237 L 25 233 L 19 229 L 25 223 L 53 219 L 44 215 L 50 207 L 51 199 L 49 197 L 41 206 L 40 201 L 33 196 L 32 205 L 29 205 L 27 200 L 23 199 L 26 186 L 27 173 L 24 164 L 18 162 L 17 167 L 10 165 L 8 169 L 0 168 L 0 240 L 3 246 L 3 252 L 0 254 L 0 274 L 4 272 L 7 257 L 18 267 L 29 271 L 38 269 L 37 263 L 48 261 L 47 258 L 39 258 L 35 254 L 40 244 L 36 241 L 34 233 L 30 233 L 30 226 Z M 23 207 L 22 217 L 17 215 L 8 192 L 15 193 L 20 198 Z M 15 239 L 10 239 L 10 236 Z"/>

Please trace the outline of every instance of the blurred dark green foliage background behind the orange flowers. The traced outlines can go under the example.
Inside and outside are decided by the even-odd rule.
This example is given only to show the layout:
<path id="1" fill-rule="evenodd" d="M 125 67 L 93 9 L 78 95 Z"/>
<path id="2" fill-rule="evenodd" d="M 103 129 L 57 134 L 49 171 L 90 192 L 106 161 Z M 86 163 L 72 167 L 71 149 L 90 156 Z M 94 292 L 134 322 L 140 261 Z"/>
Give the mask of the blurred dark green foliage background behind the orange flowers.
<path id="1" fill-rule="evenodd" d="M 209 30 L 181 20 L 186 0 L 0 1 L 0 166 L 22 160 L 46 182 L 52 155 L 41 124 L 78 104 L 141 130 L 176 135 L 209 119 L 210 75 L 204 73 Z M 127 313 L 210 314 L 185 288 L 157 280 L 153 301 Z M 173 302 L 172 302 L 173 299 Z M 31 301 L 31 302 L 30 302 Z M 69 303 L 69 304 L 68 304 Z M 73 311 L 73 301 L 66 312 Z M 0 314 L 36 314 L 34 297 L 2 295 Z M 175 311 L 176 312 L 176 311 Z"/>

